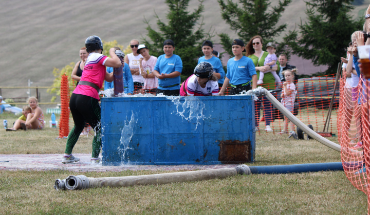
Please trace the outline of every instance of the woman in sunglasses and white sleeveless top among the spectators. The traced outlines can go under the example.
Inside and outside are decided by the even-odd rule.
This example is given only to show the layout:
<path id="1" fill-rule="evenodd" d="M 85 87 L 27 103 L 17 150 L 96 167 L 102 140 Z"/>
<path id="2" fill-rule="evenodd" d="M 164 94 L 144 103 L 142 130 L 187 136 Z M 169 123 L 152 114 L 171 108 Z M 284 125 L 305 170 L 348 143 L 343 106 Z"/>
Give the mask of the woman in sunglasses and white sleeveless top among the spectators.
<path id="1" fill-rule="evenodd" d="M 128 64 L 131 70 L 131 74 L 134 80 L 134 94 L 141 92 L 141 89 L 144 85 L 144 78 L 142 74 L 140 74 L 140 58 L 142 58 L 141 54 L 137 53 L 139 47 L 139 40 L 133 39 L 130 41 L 130 47 L 133 51 L 130 54 L 127 54 L 124 58 L 124 62 Z"/>

